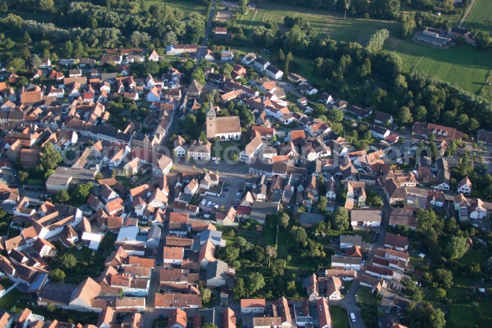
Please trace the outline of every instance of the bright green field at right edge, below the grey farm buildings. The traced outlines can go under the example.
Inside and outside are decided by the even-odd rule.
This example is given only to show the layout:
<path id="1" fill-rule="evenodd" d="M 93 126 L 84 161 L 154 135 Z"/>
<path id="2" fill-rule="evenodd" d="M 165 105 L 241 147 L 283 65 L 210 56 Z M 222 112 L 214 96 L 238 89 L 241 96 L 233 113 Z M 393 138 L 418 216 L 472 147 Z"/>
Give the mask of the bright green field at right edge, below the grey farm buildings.
<path id="1" fill-rule="evenodd" d="M 407 39 L 396 45 L 390 42 L 385 48 L 400 55 L 404 69 L 435 75 L 475 95 L 480 94 L 492 69 L 491 53 L 469 46 L 441 49 Z"/>

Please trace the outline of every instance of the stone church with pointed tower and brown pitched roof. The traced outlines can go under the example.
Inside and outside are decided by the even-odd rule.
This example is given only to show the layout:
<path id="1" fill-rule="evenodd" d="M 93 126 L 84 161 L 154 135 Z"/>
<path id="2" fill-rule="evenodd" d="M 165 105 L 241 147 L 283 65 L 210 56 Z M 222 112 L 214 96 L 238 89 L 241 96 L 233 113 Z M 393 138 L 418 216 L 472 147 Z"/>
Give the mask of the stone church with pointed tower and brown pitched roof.
<path id="1" fill-rule="evenodd" d="M 215 137 L 220 138 L 220 140 L 241 139 L 241 123 L 239 122 L 239 116 L 217 117 L 212 101 L 207 110 L 206 121 L 207 139 Z"/>

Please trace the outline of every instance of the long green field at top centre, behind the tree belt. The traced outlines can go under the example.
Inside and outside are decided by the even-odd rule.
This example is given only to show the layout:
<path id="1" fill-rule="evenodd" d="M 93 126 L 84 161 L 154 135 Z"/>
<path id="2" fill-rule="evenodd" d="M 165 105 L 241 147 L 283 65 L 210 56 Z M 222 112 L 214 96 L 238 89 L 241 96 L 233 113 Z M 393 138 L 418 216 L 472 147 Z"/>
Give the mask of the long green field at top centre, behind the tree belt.
<path id="1" fill-rule="evenodd" d="M 279 9 L 281 7 L 281 9 Z M 303 17 L 309 21 L 311 26 L 319 33 L 320 38 L 330 37 L 334 40 L 357 41 L 366 43 L 372 33 L 380 29 L 390 30 L 390 34 L 397 36 L 400 31 L 400 23 L 396 21 L 383 21 L 375 19 L 362 19 L 347 16 L 343 18 L 343 14 L 316 10 L 303 7 L 295 7 L 287 4 L 282 4 L 271 1 L 262 1 L 256 7 L 258 12 L 252 20 L 255 11 L 250 10 L 247 14 L 241 15 L 238 19 L 238 24 L 243 29 L 254 28 L 260 26 L 267 20 L 275 21 L 281 31 L 286 32 L 287 28 L 283 25 L 285 16 Z"/>

